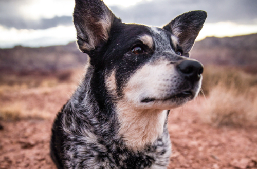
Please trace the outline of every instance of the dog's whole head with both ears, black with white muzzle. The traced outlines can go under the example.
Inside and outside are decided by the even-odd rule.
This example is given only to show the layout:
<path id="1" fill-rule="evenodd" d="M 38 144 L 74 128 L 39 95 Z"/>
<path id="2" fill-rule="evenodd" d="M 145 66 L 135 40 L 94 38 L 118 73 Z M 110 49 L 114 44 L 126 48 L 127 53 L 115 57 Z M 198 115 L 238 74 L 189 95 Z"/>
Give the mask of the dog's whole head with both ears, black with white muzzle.
<path id="1" fill-rule="evenodd" d="M 203 65 L 189 51 L 206 17 L 187 12 L 163 28 L 124 24 L 103 1 L 76 0 L 78 45 L 94 68 L 95 95 L 132 109 L 163 110 L 196 97 Z"/>

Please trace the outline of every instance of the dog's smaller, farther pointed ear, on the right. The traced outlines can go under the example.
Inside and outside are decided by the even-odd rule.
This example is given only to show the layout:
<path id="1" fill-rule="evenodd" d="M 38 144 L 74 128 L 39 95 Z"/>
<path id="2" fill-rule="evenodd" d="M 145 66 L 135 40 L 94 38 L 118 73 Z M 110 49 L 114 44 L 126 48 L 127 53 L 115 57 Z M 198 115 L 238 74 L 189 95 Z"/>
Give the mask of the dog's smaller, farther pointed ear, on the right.
<path id="1" fill-rule="evenodd" d="M 204 25 L 207 13 L 205 11 L 190 11 L 173 19 L 163 29 L 170 31 L 178 38 L 178 43 L 184 53 L 188 53 Z"/>

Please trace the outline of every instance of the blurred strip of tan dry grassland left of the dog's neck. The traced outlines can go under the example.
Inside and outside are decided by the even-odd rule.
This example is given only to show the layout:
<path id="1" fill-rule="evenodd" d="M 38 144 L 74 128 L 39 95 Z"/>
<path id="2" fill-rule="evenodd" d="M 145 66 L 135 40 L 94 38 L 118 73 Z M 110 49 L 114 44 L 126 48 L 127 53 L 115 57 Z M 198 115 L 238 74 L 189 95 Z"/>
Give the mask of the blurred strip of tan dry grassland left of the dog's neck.
<path id="1" fill-rule="evenodd" d="M 50 75 L 2 74 L 0 119 L 49 119 L 77 86 L 81 69 Z"/>

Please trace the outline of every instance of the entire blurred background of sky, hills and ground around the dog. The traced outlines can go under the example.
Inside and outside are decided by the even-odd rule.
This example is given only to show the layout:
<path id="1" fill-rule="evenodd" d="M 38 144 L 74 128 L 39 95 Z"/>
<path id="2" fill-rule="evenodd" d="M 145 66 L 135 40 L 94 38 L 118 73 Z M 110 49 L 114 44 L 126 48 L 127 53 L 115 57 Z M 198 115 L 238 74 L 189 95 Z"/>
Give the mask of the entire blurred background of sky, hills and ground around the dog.
<path id="1" fill-rule="evenodd" d="M 191 57 L 204 66 L 195 101 L 169 117 L 169 168 L 257 168 L 257 1 L 104 0 L 124 23 L 162 27 L 208 14 Z M 73 0 L 0 0 L 0 168 L 54 168 L 51 123 L 76 89 L 87 55 Z"/>

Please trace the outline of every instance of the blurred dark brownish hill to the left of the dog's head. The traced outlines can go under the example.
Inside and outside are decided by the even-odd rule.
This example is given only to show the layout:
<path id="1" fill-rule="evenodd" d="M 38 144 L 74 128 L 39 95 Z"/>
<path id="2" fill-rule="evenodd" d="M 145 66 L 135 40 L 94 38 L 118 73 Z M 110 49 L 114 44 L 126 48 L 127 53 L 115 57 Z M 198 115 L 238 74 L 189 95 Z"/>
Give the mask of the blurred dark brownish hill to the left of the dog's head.
<path id="1" fill-rule="evenodd" d="M 86 61 L 87 55 L 79 51 L 75 42 L 40 48 L 0 49 L 0 70 L 51 72 L 78 67 Z"/>

